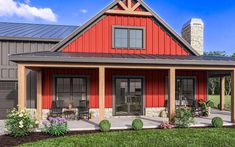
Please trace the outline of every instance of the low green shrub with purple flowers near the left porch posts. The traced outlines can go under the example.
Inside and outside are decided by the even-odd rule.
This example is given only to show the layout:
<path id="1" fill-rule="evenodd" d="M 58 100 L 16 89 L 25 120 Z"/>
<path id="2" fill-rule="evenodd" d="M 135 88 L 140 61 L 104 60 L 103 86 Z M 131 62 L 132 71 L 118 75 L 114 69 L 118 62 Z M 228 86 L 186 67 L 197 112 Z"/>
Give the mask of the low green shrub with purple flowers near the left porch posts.
<path id="1" fill-rule="evenodd" d="M 44 125 L 43 132 L 53 136 L 64 135 L 68 132 L 67 120 L 61 117 L 49 117 L 42 124 Z"/>

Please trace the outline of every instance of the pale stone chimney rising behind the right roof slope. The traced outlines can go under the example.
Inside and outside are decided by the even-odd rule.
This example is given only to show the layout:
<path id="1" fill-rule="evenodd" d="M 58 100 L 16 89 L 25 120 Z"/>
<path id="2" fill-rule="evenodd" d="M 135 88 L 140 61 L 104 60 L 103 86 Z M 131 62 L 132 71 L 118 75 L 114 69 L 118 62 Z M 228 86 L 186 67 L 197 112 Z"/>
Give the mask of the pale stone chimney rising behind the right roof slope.
<path id="1" fill-rule="evenodd" d="M 200 54 L 204 53 L 204 23 L 192 18 L 182 28 L 182 37 Z"/>

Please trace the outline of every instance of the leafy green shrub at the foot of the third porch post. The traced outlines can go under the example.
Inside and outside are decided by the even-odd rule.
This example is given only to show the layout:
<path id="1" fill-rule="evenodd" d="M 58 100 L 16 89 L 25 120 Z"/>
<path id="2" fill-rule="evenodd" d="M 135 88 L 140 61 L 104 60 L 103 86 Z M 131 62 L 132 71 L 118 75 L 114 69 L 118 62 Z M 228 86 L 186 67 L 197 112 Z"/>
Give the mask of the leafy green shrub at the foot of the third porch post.
<path id="1" fill-rule="evenodd" d="M 176 109 L 176 114 L 173 119 L 174 125 L 179 128 L 188 128 L 194 124 L 194 117 L 192 110 L 187 107 Z"/>

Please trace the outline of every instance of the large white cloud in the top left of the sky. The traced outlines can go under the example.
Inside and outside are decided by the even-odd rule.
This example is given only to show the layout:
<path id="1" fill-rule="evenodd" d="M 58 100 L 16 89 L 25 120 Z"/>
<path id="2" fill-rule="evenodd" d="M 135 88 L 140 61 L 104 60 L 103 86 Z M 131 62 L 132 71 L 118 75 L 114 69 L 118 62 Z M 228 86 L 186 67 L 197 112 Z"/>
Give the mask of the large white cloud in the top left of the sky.
<path id="1" fill-rule="evenodd" d="M 28 2 L 28 3 L 27 3 Z M 50 8 L 36 8 L 29 5 L 30 0 L 25 3 L 14 0 L 0 0 L 0 16 L 18 16 L 27 19 L 40 18 L 50 22 L 56 22 L 56 14 Z"/>

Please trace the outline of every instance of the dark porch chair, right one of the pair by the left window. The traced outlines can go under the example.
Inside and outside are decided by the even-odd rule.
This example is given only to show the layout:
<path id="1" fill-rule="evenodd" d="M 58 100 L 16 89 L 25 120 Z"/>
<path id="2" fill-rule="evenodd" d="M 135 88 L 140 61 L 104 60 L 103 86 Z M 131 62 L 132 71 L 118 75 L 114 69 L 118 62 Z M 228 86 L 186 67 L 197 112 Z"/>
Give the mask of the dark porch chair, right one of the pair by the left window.
<path id="1" fill-rule="evenodd" d="M 80 100 L 77 109 L 78 109 L 77 119 L 82 119 L 82 118 L 87 118 L 88 120 L 90 119 L 91 116 L 89 113 L 89 105 L 86 100 Z"/>

